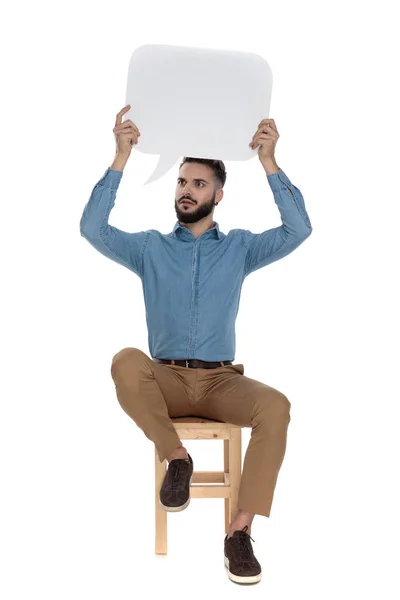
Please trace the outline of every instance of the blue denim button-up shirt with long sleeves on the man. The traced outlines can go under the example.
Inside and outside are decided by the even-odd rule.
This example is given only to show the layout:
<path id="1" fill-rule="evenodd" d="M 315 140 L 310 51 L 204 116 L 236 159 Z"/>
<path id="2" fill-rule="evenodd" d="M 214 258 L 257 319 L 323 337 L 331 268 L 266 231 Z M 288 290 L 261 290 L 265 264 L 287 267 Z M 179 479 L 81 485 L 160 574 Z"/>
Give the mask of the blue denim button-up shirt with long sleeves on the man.
<path id="1" fill-rule="evenodd" d="M 109 225 L 122 175 L 106 170 L 84 208 L 80 232 L 96 250 L 140 277 L 151 357 L 234 361 L 243 281 L 311 234 L 300 190 L 282 169 L 267 175 L 281 226 L 225 234 L 214 221 L 196 239 L 179 221 L 168 234 L 156 229 L 128 233 Z"/>

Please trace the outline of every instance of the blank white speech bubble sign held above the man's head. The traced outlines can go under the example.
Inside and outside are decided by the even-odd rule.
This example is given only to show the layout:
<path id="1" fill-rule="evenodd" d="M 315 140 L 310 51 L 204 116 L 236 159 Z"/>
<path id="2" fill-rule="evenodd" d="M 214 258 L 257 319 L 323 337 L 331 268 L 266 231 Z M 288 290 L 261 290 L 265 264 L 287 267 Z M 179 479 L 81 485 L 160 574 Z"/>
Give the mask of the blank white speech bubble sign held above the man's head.
<path id="1" fill-rule="evenodd" d="M 272 71 L 259 55 L 187 46 L 147 44 L 129 63 L 124 115 L 141 136 L 134 146 L 159 154 L 150 183 L 181 156 L 248 160 L 249 143 L 269 117 Z M 145 184 L 145 185 L 146 185 Z"/>

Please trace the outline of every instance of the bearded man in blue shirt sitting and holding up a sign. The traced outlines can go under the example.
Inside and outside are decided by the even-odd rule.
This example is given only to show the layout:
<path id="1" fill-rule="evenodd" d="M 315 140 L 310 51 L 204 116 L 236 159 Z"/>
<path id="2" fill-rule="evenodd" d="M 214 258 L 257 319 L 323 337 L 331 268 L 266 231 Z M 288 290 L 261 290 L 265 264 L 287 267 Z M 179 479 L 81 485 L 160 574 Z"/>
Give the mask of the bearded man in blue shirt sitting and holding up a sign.
<path id="1" fill-rule="evenodd" d="M 128 105 L 129 107 L 130 105 Z M 251 545 L 255 514 L 270 509 L 285 450 L 290 402 L 278 390 L 244 376 L 235 356 L 235 320 L 247 275 L 300 246 L 312 231 L 304 199 L 277 165 L 279 133 L 263 119 L 250 146 L 258 157 L 280 211 L 282 225 L 254 234 L 222 233 L 213 220 L 222 201 L 222 161 L 184 158 L 175 191 L 177 222 L 169 234 L 150 229 L 127 233 L 108 225 L 133 143 L 140 132 L 117 115 L 117 153 L 84 209 L 81 234 L 102 254 L 137 274 L 143 284 L 149 358 L 124 348 L 111 374 L 123 410 L 154 442 L 168 470 L 160 489 L 164 510 L 190 502 L 193 460 L 171 418 L 200 416 L 252 428 L 244 457 L 238 511 L 224 539 L 229 578 L 256 583 L 261 566 Z M 253 540 L 254 541 L 254 540 Z"/>

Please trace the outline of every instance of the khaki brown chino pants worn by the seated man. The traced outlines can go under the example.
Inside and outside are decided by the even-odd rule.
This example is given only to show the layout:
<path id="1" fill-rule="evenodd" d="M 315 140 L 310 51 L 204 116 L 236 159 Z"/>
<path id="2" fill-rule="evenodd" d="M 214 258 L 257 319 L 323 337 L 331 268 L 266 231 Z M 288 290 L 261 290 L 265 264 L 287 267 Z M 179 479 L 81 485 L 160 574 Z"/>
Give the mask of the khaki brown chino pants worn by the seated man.
<path id="1" fill-rule="evenodd" d="M 182 446 L 171 418 L 251 427 L 238 508 L 270 516 L 290 422 L 291 404 L 284 394 L 246 377 L 242 364 L 186 368 L 156 363 L 137 348 L 113 357 L 111 375 L 121 407 L 154 442 L 160 461 Z"/>

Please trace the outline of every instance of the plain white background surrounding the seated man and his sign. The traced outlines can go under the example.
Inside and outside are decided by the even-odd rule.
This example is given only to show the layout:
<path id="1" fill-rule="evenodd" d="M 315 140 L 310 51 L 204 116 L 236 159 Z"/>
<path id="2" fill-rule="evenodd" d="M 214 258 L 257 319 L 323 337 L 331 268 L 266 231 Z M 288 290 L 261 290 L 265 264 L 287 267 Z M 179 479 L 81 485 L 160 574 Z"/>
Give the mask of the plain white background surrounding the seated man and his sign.
<path id="1" fill-rule="evenodd" d="M 271 516 L 252 526 L 263 579 L 245 589 L 398 598 L 394 3 L 25 2 L 2 13 L 2 598 L 245 593 L 223 566 L 222 500 L 168 515 L 168 555 L 154 554 L 154 445 L 110 374 L 122 348 L 149 354 L 141 282 L 79 232 L 114 157 L 130 56 L 147 43 L 268 61 L 276 160 L 313 226 L 242 290 L 235 362 L 292 403 Z M 144 187 L 157 160 L 132 152 L 110 224 L 172 230 L 179 163 Z M 258 158 L 225 164 L 221 230 L 280 225 Z M 185 445 L 196 469 L 222 467 L 222 442 Z"/>

